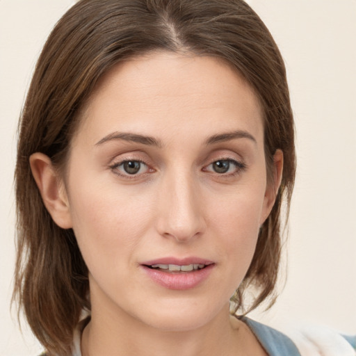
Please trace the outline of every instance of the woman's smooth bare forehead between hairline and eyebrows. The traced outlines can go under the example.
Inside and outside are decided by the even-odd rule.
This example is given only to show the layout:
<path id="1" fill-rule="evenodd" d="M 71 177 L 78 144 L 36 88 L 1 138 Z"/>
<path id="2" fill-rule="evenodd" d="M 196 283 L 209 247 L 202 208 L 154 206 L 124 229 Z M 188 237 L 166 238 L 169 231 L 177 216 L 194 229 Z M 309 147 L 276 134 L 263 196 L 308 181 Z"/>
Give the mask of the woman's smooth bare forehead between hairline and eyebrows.
<path id="1" fill-rule="evenodd" d="M 79 136 L 160 128 L 248 129 L 263 136 L 261 107 L 241 74 L 219 58 L 158 52 L 113 67 L 83 110 Z M 230 128 L 231 127 L 231 128 Z"/>

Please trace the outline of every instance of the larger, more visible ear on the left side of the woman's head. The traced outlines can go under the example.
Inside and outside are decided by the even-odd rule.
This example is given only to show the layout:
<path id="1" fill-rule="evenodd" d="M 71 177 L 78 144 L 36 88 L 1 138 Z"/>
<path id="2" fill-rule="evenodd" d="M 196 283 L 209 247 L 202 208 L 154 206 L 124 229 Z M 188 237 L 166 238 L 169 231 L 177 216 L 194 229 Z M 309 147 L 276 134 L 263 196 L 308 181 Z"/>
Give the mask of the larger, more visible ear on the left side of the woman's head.
<path id="1" fill-rule="evenodd" d="M 51 163 L 51 159 L 45 154 L 36 152 L 30 156 L 30 165 L 47 211 L 59 227 L 69 229 L 72 227 L 72 219 L 67 192 L 63 180 L 58 177 L 58 172 Z"/>

